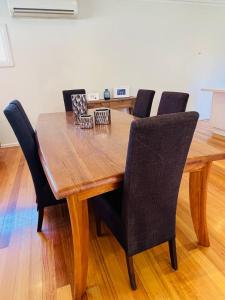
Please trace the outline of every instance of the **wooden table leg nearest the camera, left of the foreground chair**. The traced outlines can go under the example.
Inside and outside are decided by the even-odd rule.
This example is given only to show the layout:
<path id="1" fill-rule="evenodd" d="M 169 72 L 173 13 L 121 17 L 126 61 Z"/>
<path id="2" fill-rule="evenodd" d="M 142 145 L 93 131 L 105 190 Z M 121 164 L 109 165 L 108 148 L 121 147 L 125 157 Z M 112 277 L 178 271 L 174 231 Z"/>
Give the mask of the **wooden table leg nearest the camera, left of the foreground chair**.
<path id="1" fill-rule="evenodd" d="M 87 200 L 75 195 L 67 198 L 73 235 L 74 282 L 73 299 L 80 300 L 86 291 L 88 271 L 89 220 Z"/>

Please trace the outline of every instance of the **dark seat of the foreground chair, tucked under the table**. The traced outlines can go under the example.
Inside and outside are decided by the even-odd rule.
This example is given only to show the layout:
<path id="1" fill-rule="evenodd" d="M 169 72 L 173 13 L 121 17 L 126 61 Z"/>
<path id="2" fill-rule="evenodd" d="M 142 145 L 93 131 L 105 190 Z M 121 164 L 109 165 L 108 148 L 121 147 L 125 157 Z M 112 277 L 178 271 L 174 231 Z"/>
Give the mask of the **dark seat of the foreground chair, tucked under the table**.
<path id="1" fill-rule="evenodd" d="M 93 199 L 95 215 L 99 217 L 113 232 L 122 247 L 123 228 L 122 226 L 122 189 L 115 190 L 95 197 Z"/>

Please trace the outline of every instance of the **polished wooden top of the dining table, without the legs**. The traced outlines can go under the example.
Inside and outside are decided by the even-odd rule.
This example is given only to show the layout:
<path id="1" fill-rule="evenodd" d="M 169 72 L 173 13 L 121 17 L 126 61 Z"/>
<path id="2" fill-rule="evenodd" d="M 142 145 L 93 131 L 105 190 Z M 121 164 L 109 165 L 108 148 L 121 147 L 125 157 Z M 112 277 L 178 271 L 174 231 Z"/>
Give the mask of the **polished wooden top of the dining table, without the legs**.
<path id="1" fill-rule="evenodd" d="M 88 194 L 94 196 L 104 190 L 100 188 L 122 182 L 134 118 L 111 110 L 111 125 L 80 129 L 74 125 L 72 112 L 39 116 L 36 127 L 39 156 L 57 199 L 95 190 Z M 212 142 L 210 128 L 205 129 L 208 124 L 204 124 L 207 123 L 199 122 L 185 165 L 187 172 L 201 163 L 225 159 L 225 139 L 219 139 L 218 144 Z"/>

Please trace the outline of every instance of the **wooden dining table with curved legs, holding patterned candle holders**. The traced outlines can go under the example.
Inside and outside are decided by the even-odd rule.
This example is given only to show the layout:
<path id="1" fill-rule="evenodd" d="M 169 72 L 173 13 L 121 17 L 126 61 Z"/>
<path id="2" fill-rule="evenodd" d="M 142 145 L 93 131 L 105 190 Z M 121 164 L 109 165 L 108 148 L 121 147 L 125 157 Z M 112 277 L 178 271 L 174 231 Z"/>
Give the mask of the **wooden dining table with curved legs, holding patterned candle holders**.
<path id="1" fill-rule="evenodd" d="M 93 114 L 93 110 L 89 111 Z M 80 129 L 72 112 L 41 114 L 36 136 L 39 156 L 57 199 L 67 198 L 73 236 L 73 297 L 86 291 L 89 217 L 87 200 L 117 189 L 125 170 L 130 124 L 134 116 L 111 110 L 111 125 Z M 199 122 L 201 129 L 204 124 Z M 190 175 L 190 211 L 198 243 L 208 247 L 207 182 L 213 161 L 225 159 L 225 148 L 210 144 L 196 130 L 184 172 Z M 168 180 L 170 180 L 168 178 Z"/>

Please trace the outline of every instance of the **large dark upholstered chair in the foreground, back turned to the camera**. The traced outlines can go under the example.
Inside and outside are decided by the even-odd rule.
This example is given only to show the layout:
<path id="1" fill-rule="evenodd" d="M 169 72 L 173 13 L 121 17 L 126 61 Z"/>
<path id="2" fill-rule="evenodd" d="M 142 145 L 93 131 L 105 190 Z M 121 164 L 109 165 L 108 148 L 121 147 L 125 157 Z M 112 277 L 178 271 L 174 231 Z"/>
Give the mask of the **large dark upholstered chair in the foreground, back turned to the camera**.
<path id="1" fill-rule="evenodd" d="M 139 252 L 169 242 L 177 269 L 177 197 L 198 117 L 186 112 L 133 121 L 122 188 L 93 199 L 97 234 L 102 220 L 125 250 L 132 289 Z"/>

